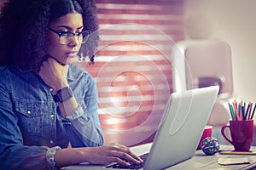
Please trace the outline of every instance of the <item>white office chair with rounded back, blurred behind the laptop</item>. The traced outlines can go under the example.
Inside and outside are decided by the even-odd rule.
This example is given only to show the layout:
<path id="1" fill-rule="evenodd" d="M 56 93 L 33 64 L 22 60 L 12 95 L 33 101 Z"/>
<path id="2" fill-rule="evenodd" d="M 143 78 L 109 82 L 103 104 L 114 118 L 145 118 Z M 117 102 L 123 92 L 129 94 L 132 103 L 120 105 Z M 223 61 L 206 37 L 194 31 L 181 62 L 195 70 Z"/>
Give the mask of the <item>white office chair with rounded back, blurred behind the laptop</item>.
<path id="1" fill-rule="evenodd" d="M 213 106 L 208 125 L 222 126 L 230 120 L 226 102 L 233 93 L 230 45 L 220 40 L 190 40 L 177 42 L 172 50 L 173 90 L 218 85 L 218 99 Z"/>

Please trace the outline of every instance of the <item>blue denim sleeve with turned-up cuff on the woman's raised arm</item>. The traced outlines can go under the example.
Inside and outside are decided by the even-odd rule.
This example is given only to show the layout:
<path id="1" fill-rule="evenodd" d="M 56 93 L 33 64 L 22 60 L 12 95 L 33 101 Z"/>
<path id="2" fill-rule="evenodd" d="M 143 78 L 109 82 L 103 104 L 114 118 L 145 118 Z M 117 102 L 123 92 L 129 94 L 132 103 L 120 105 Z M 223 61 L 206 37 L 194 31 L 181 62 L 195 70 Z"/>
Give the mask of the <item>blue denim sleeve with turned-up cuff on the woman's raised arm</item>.
<path id="1" fill-rule="evenodd" d="M 84 94 L 84 105 L 67 116 L 62 122 L 66 124 L 70 134 L 75 134 L 71 139 L 73 147 L 94 147 L 103 144 L 102 129 L 97 114 L 97 89 L 93 78 L 86 74 L 84 75 L 84 84 L 87 85 L 86 93 Z M 70 123 L 68 123 L 70 122 Z"/>

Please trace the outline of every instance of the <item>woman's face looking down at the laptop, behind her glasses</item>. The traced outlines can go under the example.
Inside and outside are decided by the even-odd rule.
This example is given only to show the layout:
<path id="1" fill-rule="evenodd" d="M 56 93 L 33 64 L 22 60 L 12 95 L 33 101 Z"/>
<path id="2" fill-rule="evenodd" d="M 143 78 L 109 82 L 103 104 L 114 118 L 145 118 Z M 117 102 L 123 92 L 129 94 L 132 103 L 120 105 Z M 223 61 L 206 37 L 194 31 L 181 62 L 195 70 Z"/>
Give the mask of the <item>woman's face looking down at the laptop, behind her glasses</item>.
<path id="1" fill-rule="evenodd" d="M 80 32 L 83 30 L 82 14 L 70 13 L 61 16 L 58 20 L 49 24 L 49 29 L 57 32 Z M 62 64 L 69 64 L 77 56 L 81 47 L 78 37 L 73 37 L 71 42 L 61 44 L 60 37 L 54 31 L 48 31 L 47 36 L 47 53 L 61 62 Z"/>

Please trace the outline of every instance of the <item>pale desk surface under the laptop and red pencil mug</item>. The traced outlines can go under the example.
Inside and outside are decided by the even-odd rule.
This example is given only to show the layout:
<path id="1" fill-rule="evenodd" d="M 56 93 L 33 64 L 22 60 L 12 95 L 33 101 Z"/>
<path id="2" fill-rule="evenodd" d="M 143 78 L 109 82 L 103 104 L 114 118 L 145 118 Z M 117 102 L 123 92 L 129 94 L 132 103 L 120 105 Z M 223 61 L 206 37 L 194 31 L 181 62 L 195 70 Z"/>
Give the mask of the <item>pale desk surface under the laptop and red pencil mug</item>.
<path id="1" fill-rule="evenodd" d="M 136 152 L 138 155 L 147 152 L 151 147 L 151 144 L 142 144 L 139 146 L 132 147 L 131 150 Z M 233 146 L 230 145 L 221 145 L 220 150 L 233 150 Z M 253 146 L 251 150 L 256 151 L 256 146 Z M 241 165 L 230 165 L 223 166 L 218 164 L 218 158 L 233 158 L 233 157 L 241 157 L 248 158 L 251 160 L 250 164 L 241 164 Z M 168 167 L 167 170 L 183 170 L 183 169 L 221 169 L 221 170 L 238 170 L 238 169 L 256 169 L 256 156 L 237 156 L 237 155 L 221 155 L 216 153 L 214 156 L 206 156 L 201 150 L 195 151 L 195 156 L 187 161 L 183 161 L 177 165 L 172 167 Z M 100 170 L 107 169 L 101 166 L 91 166 L 88 164 L 83 165 L 74 165 L 69 167 L 63 167 L 61 170 L 79 170 L 79 169 L 90 169 L 90 170 Z M 108 168 L 109 170 L 109 168 Z"/>

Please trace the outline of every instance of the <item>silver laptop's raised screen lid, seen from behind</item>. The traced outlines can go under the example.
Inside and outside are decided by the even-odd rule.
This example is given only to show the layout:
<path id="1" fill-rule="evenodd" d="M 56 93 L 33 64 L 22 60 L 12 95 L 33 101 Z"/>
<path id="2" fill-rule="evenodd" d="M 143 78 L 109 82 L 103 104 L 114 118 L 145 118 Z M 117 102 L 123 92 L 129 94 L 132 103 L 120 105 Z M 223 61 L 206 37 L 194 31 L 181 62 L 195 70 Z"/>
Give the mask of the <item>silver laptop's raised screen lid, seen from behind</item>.
<path id="1" fill-rule="evenodd" d="M 195 155 L 218 90 L 218 86 L 212 86 L 171 94 L 153 144 L 141 169 L 164 169 Z M 105 168 L 109 169 L 96 166 L 96 169 Z M 125 167 L 122 168 L 125 169 Z"/>

